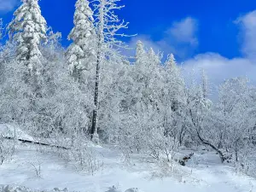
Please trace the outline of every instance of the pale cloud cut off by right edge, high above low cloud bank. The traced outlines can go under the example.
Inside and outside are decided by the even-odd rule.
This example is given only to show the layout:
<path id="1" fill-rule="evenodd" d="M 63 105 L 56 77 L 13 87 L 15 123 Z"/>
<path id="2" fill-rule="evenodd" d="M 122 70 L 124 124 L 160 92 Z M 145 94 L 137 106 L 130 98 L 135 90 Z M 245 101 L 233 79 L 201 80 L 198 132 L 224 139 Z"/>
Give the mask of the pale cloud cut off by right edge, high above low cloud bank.
<path id="1" fill-rule="evenodd" d="M 256 61 L 256 10 L 239 17 L 236 23 L 241 26 L 243 54 Z"/>

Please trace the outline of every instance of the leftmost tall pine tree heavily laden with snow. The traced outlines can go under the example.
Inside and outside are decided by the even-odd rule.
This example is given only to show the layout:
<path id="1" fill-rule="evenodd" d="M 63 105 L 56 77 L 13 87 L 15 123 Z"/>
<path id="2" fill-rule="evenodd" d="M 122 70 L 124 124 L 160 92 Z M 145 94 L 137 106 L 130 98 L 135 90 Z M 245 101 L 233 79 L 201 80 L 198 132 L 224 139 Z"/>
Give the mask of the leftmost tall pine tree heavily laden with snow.
<path id="1" fill-rule="evenodd" d="M 40 44 L 46 41 L 46 21 L 41 15 L 38 0 L 22 0 L 9 23 L 9 36 L 17 44 L 17 59 L 28 67 L 28 72 L 40 73 Z"/>

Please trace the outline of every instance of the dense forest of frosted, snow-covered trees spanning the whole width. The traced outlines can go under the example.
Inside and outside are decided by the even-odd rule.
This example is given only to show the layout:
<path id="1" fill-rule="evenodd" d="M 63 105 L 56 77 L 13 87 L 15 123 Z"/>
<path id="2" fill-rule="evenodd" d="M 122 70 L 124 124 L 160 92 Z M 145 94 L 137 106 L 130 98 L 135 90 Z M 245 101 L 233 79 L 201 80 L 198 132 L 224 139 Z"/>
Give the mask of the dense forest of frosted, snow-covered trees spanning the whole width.
<path id="1" fill-rule="evenodd" d="M 2 20 L 1 124 L 91 174 L 102 161 L 88 143 L 117 148 L 127 162 L 139 154 L 175 169 L 193 156 L 177 153 L 204 146 L 222 164 L 256 176 L 256 87 L 249 79 L 224 79 L 212 99 L 204 69 L 200 78 L 183 73 L 175 55 L 142 41 L 125 54 L 133 48 L 125 43 L 128 23 L 116 15 L 119 0 L 78 0 L 75 8 L 68 37 L 47 25 L 38 0 L 23 0 L 7 26 Z M 61 38 L 70 40 L 67 48 Z M 17 145 L 0 131 L 0 165 Z"/>

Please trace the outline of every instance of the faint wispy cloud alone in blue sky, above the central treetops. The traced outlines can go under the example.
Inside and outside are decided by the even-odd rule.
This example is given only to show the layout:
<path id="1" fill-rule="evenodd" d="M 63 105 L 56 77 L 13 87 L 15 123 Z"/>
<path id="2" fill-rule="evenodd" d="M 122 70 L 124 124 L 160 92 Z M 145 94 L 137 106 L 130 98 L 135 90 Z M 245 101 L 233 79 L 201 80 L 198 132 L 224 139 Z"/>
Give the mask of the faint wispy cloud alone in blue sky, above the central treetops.
<path id="1" fill-rule="evenodd" d="M 197 21 L 191 17 L 175 21 L 172 26 L 163 32 L 163 38 L 153 40 L 150 35 L 141 34 L 131 38 L 130 46 L 135 47 L 137 40 L 141 40 L 145 47 L 152 47 L 167 54 L 174 54 L 185 59 L 193 55 L 198 40 L 196 38 Z"/>

